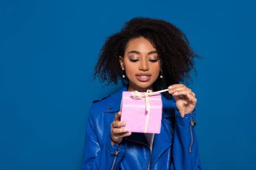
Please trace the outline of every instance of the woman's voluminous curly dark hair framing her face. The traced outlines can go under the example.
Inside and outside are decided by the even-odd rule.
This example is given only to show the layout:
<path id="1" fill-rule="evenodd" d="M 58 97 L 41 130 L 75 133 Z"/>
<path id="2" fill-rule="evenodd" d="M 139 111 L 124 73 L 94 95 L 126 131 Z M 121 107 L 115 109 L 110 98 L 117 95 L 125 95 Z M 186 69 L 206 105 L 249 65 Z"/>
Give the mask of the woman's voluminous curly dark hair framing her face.
<path id="1" fill-rule="evenodd" d="M 167 88 L 176 83 L 188 83 L 191 80 L 189 71 L 194 68 L 194 58 L 199 58 L 189 46 L 187 36 L 176 26 L 160 19 L 135 17 L 121 29 L 121 32 L 106 39 L 100 50 L 98 62 L 94 68 L 94 79 L 117 84 L 121 79 L 128 85 L 127 78 L 122 79 L 119 56 L 124 56 L 127 43 L 133 38 L 143 37 L 156 48 L 163 78 L 156 79 L 154 91 Z M 196 71 L 195 71 L 196 73 Z M 170 98 L 169 93 L 164 94 Z"/>

